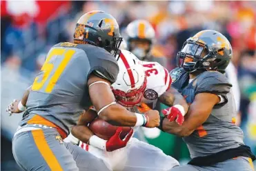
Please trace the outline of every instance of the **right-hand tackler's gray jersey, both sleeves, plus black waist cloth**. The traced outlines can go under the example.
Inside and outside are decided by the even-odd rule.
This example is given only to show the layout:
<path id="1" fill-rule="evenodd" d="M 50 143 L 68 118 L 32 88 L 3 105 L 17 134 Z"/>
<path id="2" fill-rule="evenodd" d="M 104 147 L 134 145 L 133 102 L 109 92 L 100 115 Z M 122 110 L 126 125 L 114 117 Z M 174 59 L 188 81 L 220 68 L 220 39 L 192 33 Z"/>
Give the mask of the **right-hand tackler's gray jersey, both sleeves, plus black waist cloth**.
<path id="1" fill-rule="evenodd" d="M 217 94 L 224 99 L 214 106 L 208 119 L 197 130 L 184 137 L 192 159 L 190 164 L 207 166 L 233 157 L 250 157 L 250 152 L 246 154 L 249 148 L 244 145 L 243 132 L 235 125 L 235 101 L 225 75 L 203 72 L 190 83 L 188 73 L 183 68 L 176 68 L 170 75 L 172 86 L 181 92 L 189 104 L 193 103 L 197 94 L 204 92 Z"/>

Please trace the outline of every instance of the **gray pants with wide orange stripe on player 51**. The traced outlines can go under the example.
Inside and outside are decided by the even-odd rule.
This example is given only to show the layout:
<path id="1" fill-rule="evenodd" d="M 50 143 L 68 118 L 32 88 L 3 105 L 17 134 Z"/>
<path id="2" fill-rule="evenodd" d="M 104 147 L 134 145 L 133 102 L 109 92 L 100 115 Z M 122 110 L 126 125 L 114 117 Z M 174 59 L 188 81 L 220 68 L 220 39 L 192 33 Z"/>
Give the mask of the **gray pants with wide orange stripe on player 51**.
<path id="1" fill-rule="evenodd" d="M 71 143 L 55 128 L 21 132 L 12 139 L 12 153 L 23 170 L 108 171 L 104 161 Z"/>

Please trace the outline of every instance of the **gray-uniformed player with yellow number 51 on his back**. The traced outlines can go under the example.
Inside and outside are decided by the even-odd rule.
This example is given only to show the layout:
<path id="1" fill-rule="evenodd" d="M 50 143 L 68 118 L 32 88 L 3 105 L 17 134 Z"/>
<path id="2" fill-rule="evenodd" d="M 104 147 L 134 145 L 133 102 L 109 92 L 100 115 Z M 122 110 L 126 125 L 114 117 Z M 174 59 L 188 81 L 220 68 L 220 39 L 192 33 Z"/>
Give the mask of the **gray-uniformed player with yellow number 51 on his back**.
<path id="1" fill-rule="evenodd" d="M 99 118 L 113 125 L 159 125 L 159 112 L 129 112 L 115 102 L 110 84 L 119 72 L 115 59 L 119 35 L 117 21 L 110 14 L 83 14 L 74 42 L 53 46 L 23 99 L 10 104 L 10 114 L 26 110 L 12 140 L 14 159 L 23 170 L 108 170 L 101 159 L 62 141 L 90 105 Z M 91 137 L 90 144 L 95 141 Z"/>

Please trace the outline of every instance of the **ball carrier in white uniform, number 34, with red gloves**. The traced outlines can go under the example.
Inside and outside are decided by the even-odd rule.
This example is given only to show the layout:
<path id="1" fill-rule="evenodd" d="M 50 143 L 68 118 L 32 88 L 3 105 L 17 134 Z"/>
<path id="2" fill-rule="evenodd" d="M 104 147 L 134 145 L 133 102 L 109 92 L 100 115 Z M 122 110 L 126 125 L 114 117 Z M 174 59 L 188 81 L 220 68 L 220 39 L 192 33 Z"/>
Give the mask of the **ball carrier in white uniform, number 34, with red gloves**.
<path id="1" fill-rule="evenodd" d="M 170 88 L 172 80 L 166 68 L 156 62 L 139 61 L 134 54 L 127 50 L 121 50 L 117 63 L 119 65 L 119 74 L 117 81 L 111 85 L 117 103 L 129 110 L 139 108 L 141 111 L 149 108 L 148 105 L 154 108 L 155 102 L 159 99 L 166 105 L 173 105 L 173 110 L 170 110 L 170 116 L 175 117 L 175 119 L 177 117 L 177 123 L 182 123 L 183 116 L 188 110 L 188 105 L 181 94 Z M 96 157 L 104 159 L 110 170 L 157 171 L 169 170 L 175 165 L 179 165 L 177 160 L 164 154 L 159 148 L 135 138 L 128 141 L 124 148 L 123 141 L 116 137 L 115 141 L 121 145 L 116 145 L 115 151 L 107 152 L 110 150 L 106 147 L 106 140 L 94 135 L 88 130 L 89 128 L 85 128 L 97 116 L 95 114 L 95 117 L 93 117 L 92 111 L 88 112 L 92 117 L 88 117 L 90 114 L 83 117 L 81 119 L 83 121 L 80 120 L 79 125 L 72 129 L 72 133 L 76 135 L 77 132 L 83 132 L 83 134 L 80 133 L 83 136 L 79 137 L 81 140 L 80 146 Z M 82 128 L 85 129 L 82 130 Z M 90 142 L 90 136 L 97 137 L 98 144 L 96 146 L 83 143 Z M 73 143 L 78 143 L 78 139 Z M 117 148 L 121 149 L 117 150 Z"/>

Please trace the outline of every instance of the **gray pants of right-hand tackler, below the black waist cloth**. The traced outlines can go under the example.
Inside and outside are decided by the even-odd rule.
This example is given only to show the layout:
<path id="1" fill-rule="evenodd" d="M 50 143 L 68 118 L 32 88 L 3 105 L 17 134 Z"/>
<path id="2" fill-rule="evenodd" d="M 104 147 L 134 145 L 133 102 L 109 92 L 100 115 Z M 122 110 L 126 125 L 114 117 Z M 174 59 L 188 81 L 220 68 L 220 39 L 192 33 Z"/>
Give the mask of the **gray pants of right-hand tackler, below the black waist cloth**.
<path id="1" fill-rule="evenodd" d="M 180 165 L 170 171 L 254 171 L 254 169 L 250 158 L 237 157 L 212 166 Z"/>

